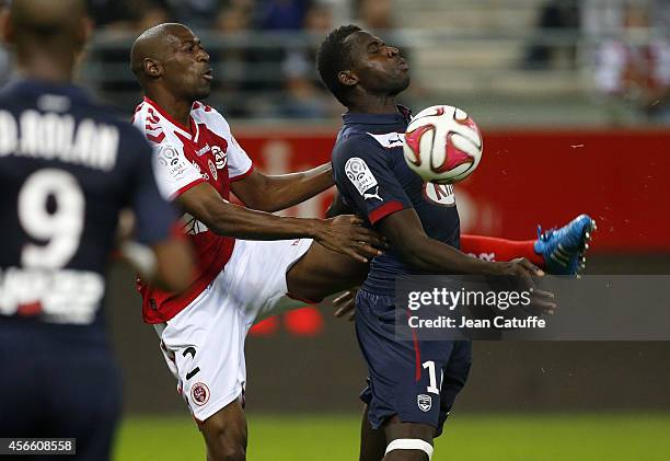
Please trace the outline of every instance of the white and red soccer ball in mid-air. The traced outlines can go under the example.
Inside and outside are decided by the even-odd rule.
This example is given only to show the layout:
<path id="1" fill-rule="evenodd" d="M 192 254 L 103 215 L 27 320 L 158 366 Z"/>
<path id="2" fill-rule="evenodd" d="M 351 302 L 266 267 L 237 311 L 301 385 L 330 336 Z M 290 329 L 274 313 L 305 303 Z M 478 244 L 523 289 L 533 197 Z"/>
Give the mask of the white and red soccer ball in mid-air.
<path id="1" fill-rule="evenodd" d="M 412 119 L 403 151 L 407 165 L 426 182 L 453 184 L 467 177 L 482 159 L 482 135 L 467 114 L 434 105 Z"/>

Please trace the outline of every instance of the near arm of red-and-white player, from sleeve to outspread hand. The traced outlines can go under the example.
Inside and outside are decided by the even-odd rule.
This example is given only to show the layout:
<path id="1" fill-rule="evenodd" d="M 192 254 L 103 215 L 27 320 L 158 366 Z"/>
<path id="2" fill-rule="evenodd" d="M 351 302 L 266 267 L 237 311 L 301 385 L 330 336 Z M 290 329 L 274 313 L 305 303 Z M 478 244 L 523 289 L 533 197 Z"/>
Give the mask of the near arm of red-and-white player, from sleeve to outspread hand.
<path id="1" fill-rule="evenodd" d="M 182 208 L 219 235 L 247 240 L 285 240 L 311 238 L 328 250 L 357 261 L 381 254 L 383 239 L 361 227 L 354 216 L 334 219 L 308 219 L 270 215 L 230 204 L 208 183 L 200 183 L 178 196 Z"/>

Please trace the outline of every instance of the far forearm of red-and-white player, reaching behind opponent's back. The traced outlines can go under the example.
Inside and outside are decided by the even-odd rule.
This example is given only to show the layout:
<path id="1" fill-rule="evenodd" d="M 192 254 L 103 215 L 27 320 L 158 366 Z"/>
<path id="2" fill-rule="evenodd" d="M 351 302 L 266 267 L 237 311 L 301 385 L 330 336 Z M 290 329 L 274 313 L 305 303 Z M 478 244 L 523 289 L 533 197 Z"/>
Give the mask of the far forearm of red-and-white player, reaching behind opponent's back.
<path id="1" fill-rule="evenodd" d="M 247 207 L 273 212 L 312 198 L 333 184 L 332 166 L 325 163 L 312 170 L 289 174 L 265 175 L 255 171 L 231 187 Z"/>

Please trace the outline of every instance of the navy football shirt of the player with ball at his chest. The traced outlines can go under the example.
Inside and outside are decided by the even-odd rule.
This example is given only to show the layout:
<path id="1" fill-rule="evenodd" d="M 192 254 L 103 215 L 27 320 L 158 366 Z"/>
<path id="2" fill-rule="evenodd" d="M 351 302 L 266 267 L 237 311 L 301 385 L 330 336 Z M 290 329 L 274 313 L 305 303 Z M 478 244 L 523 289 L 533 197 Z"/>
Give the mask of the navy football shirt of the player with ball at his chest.
<path id="1" fill-rule="evenodd" d="M 453 188 L 425 183 L 403 155 L 409 113 L 344 115 L 333 150 L 333 171 L 345 204 L 371 227 L 386 216 L 414 208 L 426 234 L 459 247 L 459 212 Z M 363 288 L 379 295 L 395 292 L 395 277 L 418 274 L 391 247 L 372 260 Z"/>

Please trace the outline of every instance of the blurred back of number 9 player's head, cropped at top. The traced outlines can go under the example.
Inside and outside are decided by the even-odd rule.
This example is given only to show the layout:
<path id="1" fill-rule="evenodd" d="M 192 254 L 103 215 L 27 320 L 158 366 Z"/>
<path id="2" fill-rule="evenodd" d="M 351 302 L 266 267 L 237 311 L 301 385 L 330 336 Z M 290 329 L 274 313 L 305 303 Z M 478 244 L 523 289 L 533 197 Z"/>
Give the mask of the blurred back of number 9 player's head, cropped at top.
<path id="1" fill-rule="evenodd" d="M 9 39 L 16 45 L 83 46 L 86 38 L 83 0 L 13 0 Z"/>

